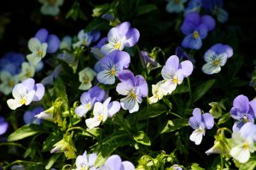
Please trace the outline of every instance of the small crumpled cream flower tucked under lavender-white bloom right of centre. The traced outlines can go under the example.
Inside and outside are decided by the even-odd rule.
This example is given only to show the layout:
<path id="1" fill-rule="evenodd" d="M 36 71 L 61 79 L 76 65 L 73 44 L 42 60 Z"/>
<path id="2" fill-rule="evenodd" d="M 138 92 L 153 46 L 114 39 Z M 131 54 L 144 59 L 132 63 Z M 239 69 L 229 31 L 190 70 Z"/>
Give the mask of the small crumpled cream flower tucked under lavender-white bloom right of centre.
<path id="1" fill-rule="evenodd" d="M 158 100 L 162 99 L 165 95 L 165 91 L 161 88 L 163 82 L 157 82 L 157 84 L 152 85 L 153 96 L 149 98 L 149 104 L 155 104 Z"/>

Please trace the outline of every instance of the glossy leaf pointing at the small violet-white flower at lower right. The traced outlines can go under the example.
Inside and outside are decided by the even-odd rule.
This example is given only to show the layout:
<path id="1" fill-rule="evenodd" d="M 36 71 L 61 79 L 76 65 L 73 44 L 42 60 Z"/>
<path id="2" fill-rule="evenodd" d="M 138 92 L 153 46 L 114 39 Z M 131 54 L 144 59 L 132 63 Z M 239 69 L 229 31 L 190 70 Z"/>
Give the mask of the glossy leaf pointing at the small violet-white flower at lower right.
<path id="1" fill-rule="evenodd" d="M 160 127 L 160 133 L 171 133 L 177 129 L 182 127 L 186 127 L 189 125 L 189 121 L 186 118 L 177 118 L 173 120 L 169 120 L 166 124 Z"/>

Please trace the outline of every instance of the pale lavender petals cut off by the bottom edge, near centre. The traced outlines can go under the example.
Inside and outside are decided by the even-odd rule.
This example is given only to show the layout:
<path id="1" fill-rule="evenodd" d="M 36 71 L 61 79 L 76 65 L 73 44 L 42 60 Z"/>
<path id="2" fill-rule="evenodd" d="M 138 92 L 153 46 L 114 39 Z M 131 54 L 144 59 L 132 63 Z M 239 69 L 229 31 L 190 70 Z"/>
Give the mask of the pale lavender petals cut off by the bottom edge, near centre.
<path id="1" fill-rule="evenodd" d="M 131 161 L 122 161 L 120 156 L 113 155 L 109 156 L 107 161 L 102 167 L 99 167 L 98 170 L 135 170 L 134 165 Z"/>

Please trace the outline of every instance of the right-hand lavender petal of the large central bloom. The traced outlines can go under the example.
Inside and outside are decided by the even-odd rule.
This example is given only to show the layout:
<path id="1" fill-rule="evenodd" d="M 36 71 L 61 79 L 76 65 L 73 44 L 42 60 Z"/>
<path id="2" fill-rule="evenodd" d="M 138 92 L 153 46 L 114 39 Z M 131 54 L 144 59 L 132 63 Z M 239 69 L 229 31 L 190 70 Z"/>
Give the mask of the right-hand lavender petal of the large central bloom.
<path id="1" fill-rule="evenodd" d="M 148 83 L 143 76 L 137 75 L 134 77 L 134 85 L 141 94 L 141 97 L 146 97 L 148 95 Z"/>

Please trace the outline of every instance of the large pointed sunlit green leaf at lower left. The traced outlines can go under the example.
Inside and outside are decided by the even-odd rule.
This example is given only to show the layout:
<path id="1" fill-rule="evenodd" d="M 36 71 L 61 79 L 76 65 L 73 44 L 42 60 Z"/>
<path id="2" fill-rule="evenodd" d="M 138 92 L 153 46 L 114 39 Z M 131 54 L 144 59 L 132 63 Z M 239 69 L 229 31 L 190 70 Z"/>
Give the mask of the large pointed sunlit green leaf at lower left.
<path id="1" fill-rule="evenodd" d="M 18 128 L 14 133 L 11 133 L 8 137 L 8 141 L 15 141 L 25 139 L 26 137 L 35 135 L 37 133 L 45 133 L 42 127 L 38 124 L 24 125 Z"/>

